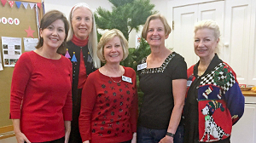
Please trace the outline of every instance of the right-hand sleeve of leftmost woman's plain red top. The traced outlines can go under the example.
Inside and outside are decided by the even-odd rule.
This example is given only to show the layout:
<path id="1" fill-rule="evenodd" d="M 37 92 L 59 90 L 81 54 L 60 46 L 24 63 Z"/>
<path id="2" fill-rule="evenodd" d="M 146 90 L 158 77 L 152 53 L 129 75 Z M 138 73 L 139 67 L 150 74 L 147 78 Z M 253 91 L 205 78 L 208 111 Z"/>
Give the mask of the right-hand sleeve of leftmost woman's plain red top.
<path id="1" fill-rule="evenodd" d="M 73 102 L 72 102 L 72 82 L 73 82 L 73 71 L 72 71 L 72 63 L 70 60 L 67 61 L 69 63 L 69 75 L 70 75 L 70 90 L 67 93 L 67 100 L 65 106 L 63 107 L 63 116 L 64 121 L 72 121 L 72 109 L 73 109 Z"/>

